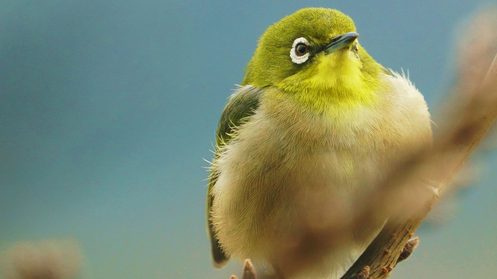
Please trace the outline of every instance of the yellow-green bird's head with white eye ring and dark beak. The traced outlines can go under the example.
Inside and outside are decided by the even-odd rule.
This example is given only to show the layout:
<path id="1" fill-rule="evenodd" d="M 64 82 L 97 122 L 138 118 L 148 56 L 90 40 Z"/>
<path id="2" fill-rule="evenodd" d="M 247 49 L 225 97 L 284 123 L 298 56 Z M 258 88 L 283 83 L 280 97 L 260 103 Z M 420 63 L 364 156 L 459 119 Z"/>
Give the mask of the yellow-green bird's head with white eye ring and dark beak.
<path id="1" fill-rule="evenodd" d="M 384 68 L 358 37 L 352 19 L 338 10 L 298 10 L 260 37 L 242 85 L 277 87 L 320 111 L 371 103 Z"/>

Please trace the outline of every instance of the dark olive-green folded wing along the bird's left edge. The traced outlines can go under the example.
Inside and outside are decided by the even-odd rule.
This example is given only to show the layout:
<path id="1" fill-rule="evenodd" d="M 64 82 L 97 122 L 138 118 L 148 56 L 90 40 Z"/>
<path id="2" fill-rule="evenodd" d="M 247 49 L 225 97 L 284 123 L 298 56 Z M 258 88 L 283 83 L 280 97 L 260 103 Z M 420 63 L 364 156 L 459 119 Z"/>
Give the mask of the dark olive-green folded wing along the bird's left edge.
<path id="1" fill-rule="evenodd" d="M 259 105 L 261 93 L 261 89 L 252 86 L 244 86 L 230 96 L 216 131 L 216 158 L 219 156 L 220 149 L 233 140 L 234 129 L 246 123 L 248 117 L 254 114 L 255 109 L 257 109 Z M 216 158 L 214 158 L 214 161 Z M 215 236 L 214 227 L 211 221 L 211 206 L 215 198 L 212 194 L 212 188 L 214 184 L 216 184 L 218 176 L 219 172 L 213 168 L 209 175 L 206 207 L 207 231 L 211 240 L 212 263 L 214 267 L 221 268 L 230 256 L 222 251 L 219 241 Z"/>

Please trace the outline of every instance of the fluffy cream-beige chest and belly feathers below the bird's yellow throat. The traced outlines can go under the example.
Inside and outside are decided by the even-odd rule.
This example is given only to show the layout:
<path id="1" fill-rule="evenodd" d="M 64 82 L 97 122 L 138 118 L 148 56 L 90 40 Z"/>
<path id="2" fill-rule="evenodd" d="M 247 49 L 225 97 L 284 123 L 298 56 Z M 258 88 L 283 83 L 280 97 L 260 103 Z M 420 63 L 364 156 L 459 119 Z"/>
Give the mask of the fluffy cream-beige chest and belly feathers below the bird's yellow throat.
<path id="1" fill-rule="evenodd" d="M 255 113 L 213 163 L 219 177 L 212 188 L 212 223 L 225 252 L 274 265 L 275 247 L 297 243 L 304 227 L 346 216 L 359 191 L 430 141 L 421 94 L 398 74 L 382 81 L 388 87 L 373 104 L 333 113 L 306 110 L 278 89 L 263 93 Z M 381 225 L 357 237 L 356 251 L 333 252 L 345 260 L 324 261 L 329 267 L 319 270 L 343 269 Z"/>

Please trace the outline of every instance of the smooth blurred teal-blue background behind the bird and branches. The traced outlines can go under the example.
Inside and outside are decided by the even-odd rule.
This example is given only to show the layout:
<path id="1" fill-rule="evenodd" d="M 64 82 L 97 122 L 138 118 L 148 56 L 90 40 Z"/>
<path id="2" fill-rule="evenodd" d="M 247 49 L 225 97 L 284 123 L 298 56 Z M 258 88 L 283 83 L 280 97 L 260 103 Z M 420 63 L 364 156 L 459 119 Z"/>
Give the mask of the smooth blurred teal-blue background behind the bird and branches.
<path id="1" fill-rule="evenodd" d="M 486 3 L 0 1 L 0 250 L 70 236 L 83 278 L 228 279 L 240 266 L 211 267 L 202 158 L 265 28 L 337 8 L 438 113 L 456 26 Z M 392 279 L 497 274 L 497 153 L 476 161 L 454 217 L 421 228 Z"/>

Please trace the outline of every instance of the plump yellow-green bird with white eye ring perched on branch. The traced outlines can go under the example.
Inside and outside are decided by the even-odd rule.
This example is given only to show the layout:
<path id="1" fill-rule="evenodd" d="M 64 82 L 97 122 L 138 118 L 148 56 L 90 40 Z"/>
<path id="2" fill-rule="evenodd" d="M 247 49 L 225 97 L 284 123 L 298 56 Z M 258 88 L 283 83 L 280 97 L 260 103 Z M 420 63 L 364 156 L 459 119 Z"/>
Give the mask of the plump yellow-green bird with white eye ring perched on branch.
<path id="1" fill-rule="evenodd" d="M 305 8 L 260 37 L 217 129 L 207 190 L 215 267 L 250 258 L 279 278 L 339 278 L 389 218 L 367 212 L 345 225 L 364 193 L 374 200 L 377 182 L 431 142 L 430 116 L 358 36 L 342 12 Z"/>

